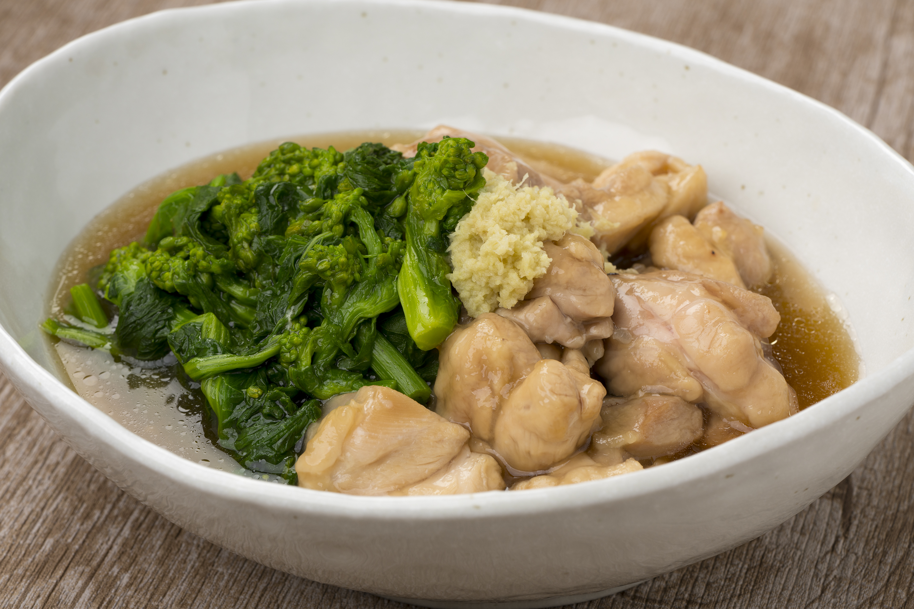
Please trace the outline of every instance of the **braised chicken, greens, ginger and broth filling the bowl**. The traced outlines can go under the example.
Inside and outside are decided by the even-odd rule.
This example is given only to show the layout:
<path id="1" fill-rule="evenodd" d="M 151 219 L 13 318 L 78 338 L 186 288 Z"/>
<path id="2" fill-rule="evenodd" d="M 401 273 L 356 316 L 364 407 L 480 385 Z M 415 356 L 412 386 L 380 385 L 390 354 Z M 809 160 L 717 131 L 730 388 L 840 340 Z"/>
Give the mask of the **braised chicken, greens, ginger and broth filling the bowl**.
<path id="1" fill-rule="evenodd" d="M 74 387 L 160 444 L 199 425 L 207 464 L 440 495 L 656 467 L 856 380 L 834 311 L 700 165 L 388 143 L 286 142 L 95 226 L 42 325 Z"/>

